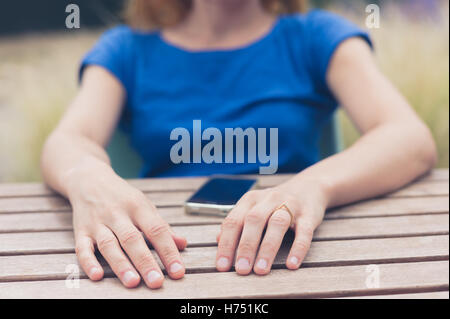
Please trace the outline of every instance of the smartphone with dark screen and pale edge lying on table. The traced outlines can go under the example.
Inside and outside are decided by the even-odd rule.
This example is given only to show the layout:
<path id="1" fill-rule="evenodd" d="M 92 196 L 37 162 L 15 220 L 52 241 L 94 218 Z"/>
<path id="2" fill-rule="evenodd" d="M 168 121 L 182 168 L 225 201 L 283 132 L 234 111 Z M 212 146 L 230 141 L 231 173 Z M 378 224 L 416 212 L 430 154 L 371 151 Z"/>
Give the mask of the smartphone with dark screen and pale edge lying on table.
<path id="1" fill-rule="evenodd" d="M 213 177 L 189 198 L 184 207 L 187 214 L 226 216 L 238 200 L 256 187 L 255 179 Z"/>

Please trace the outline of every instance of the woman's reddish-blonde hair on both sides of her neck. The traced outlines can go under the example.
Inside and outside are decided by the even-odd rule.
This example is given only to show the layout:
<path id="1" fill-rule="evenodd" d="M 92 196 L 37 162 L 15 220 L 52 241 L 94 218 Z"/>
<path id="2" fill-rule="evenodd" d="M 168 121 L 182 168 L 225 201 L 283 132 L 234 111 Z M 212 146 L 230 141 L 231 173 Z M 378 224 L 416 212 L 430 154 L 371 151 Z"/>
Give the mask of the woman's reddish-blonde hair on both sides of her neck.
<path id="1" fill-rule="evenodd" d="M 270 13 L 305 12 L 307 0 L 260 0 Z M 157 29 L 177 24 L 192 7 L 192 0 L 128 0 L 128 24 L 140 29 Z"/>

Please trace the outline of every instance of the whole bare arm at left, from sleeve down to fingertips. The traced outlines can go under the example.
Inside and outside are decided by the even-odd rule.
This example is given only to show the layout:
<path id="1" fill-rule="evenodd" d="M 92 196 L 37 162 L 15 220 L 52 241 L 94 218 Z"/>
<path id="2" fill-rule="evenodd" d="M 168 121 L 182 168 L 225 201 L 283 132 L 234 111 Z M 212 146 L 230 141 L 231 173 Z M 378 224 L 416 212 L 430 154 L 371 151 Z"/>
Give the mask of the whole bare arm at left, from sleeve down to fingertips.
<path id="1" fill-rule="evenodd" d="M 44 146 L 42 174 L 72 204 L 76 253 L 90 279 L 100 280 L 104 274 L 94 255 L 97 246 L 126 287 L 137 286 L 142 277 L 148 287 L 159 288 L 163 274 L 140 231 L 174 279 L 184 275 L 178 249 L 184 249 L 186 240 L 176 236 L 146 196 L 109 164 L 104 146 L 124 98 L 125 90 L 114 76 L 88 67 L 77 97 Z"/>

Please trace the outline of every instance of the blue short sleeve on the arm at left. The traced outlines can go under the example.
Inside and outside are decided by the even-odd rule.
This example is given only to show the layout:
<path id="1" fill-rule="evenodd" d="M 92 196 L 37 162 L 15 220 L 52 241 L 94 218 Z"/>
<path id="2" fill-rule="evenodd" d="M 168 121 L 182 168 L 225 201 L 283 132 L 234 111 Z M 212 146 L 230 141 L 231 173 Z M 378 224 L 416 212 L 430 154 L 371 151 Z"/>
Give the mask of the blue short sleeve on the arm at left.
<path id="1" fill-rule="evenodd" d="M 132 60 L 131 40 L 132 32 L 127 26 L 118 26 L 103 33 L 94 47 L 83 57 L 79 80 L 81 81 L 87 66 L 101 66 L 114 75 L 129 93 L 132 82 L 132 76 L 129 74 L 129 62 Z"/>

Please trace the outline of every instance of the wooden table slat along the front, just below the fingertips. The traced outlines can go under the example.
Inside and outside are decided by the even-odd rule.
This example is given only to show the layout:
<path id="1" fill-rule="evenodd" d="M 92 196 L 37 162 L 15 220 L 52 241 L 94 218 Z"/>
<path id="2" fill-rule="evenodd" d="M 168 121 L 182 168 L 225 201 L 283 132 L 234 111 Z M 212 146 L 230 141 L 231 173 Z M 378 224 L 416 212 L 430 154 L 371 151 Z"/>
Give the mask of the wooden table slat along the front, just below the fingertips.
<path id="1" fill-rule="evenodd" d="M 159 290 L 143 285 L 125 289 L 116 278 L 96 283 L 81 279 L 73 289 L 64 280 L 8 282 L 0 283 L 0 298 L 293 298 L 424 292 L 448 289 L 448 267 L 448 261 L 379 265 L 379 288 L 367 288 L 367 266 L 345 266 L 274 270 L 262 277 L 188 274 L 178 281 L 166 280 Z"/>

